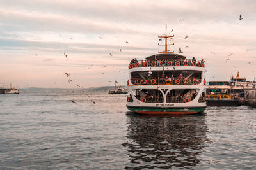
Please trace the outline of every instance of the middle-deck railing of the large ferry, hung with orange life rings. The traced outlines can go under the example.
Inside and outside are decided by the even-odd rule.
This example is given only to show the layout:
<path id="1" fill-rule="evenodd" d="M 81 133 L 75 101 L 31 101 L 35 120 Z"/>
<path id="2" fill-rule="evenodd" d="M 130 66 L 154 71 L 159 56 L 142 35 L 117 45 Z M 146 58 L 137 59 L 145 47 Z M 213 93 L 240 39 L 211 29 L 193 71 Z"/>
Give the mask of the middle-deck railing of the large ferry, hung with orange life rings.
<path id="1" fill-rule="evenodd" d="M 198 85 L 202 78 L 132 78 L 132 85 Z"/>

